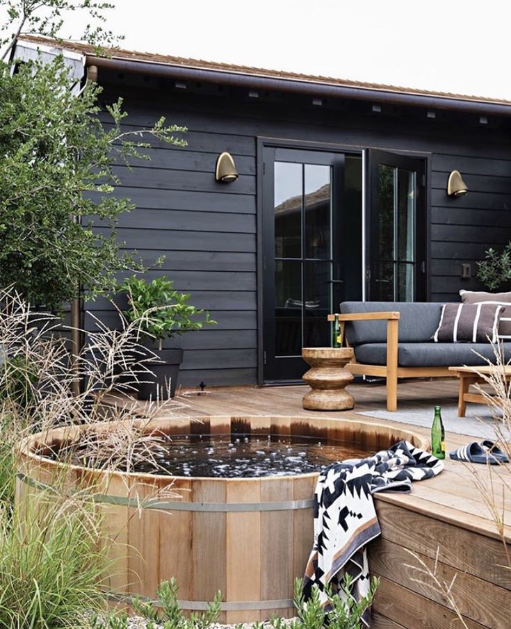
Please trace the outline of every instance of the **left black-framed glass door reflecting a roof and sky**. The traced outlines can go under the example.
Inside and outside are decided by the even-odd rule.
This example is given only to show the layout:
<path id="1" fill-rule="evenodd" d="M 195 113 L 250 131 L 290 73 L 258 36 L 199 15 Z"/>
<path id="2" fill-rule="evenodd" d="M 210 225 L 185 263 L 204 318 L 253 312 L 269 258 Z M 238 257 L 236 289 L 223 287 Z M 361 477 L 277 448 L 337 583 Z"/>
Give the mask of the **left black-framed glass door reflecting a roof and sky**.
<path id="1" fill-rule="evenodd" d="M 327 314 L 344 296 L 340 210 L 346 160 L 343 154 L 265 151 L 264 379 L 296 380 L 307 367 L 302 347 L 330 345 Z M 352 159 L 350 172 L 362 174 L 360 158 Z M 362 212 L 355 213 L 360 223 L 352 275 L 361 286 Z"/>

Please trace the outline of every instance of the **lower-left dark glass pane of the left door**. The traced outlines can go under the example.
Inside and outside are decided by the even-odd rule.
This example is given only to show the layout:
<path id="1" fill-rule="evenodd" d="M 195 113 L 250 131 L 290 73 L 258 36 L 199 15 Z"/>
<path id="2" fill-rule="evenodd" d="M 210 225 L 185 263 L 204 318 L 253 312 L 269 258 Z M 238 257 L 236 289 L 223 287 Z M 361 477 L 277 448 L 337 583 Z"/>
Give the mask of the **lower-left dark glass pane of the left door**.
<path id="1" fill-rule="evenodd" d="M 275 261 L 275 356 L 302 353 L 302 263 Z"/>

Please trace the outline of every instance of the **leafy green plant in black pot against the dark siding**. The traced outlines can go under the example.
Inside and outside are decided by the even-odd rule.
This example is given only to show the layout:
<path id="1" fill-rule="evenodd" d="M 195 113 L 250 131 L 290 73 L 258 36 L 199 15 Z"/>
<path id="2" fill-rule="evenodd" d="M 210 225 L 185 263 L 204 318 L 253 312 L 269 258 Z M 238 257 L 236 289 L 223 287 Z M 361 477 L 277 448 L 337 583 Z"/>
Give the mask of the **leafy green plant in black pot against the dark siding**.
<path id="1" fill-rule="evenodd" d="M 128 298 L 128 309 L 124 315 L 130 321 L 138 322 L 138 329 L 144 336 L 143 343 L 154 357 L 154 361 L 146 363 L 154 379 L 152 374 L 147 373 L 144 378 L 147 382 L 140 382 L 138 387 L 138 397 L 141 400 L 173 398 L 183 350 L 163 348 L 163 341 L 199 330 L 204 325 L 214 325 L 216 321 L 211 319 L 208 311 L 188 304 L 190 295 L 176 291 L 172 279 L 165 275 L 152 281 L 133 275 L 124 280 L 118 291 Z"/>

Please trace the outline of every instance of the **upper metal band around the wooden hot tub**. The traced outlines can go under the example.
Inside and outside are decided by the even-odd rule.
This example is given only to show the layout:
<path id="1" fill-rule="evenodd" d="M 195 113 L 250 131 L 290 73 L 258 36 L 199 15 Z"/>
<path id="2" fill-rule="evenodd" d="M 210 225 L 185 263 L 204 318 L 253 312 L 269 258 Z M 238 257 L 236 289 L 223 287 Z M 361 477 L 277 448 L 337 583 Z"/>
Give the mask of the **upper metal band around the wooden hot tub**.
<path id="1" fill-rule="evenodd" d="M 54 487 L 24 474 L 18 474 L 22 480 L 31 487 L 47 491 Z M 159 511 L 207 511 L 212 513 L 246 513 L 257 511 L 295 511 L 296 509 L 311 509 L 314 500 L 275 500 L 273 503 L 184 503 L 177 500 L 136 500 L 136 498 L 124 498 L 124 496 L 107 496 L 105 493 L 95 493 L 91 496 L 95 503 L 106 505 L 118 505 L 120 507 L 136 507 L 136 509 L 156 509 Z"/>

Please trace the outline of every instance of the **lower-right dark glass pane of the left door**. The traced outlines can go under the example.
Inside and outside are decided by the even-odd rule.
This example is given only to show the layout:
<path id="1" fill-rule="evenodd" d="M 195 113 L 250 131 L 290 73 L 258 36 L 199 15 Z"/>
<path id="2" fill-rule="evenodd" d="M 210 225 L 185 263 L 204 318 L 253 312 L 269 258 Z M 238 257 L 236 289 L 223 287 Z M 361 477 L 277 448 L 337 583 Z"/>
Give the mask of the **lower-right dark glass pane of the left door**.
<path id="1" fill-rule="evenodd" d="M 330 262 L 305 262 L 304 346 L 330 346 Z"/>

